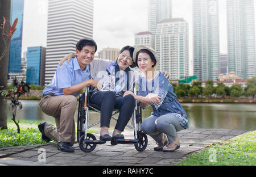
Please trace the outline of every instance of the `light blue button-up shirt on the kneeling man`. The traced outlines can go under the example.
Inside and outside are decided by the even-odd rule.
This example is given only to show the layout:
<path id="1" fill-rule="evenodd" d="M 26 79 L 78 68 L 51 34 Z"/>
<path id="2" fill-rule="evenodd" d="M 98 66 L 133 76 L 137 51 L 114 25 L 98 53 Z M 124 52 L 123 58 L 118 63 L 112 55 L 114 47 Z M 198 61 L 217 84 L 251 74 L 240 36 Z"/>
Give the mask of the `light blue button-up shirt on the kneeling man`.
<path id="1" fill-rule="evenodd" d="M 90 79 L 89 65 L 82 71 L 77 61 L 77 57 L 75 57 L 72 58 L 69 63 L 65 61 L 62 66 L 57 66 L 52 81 L 44 88 L 42 94 L 54 94 L 55 96 L 64 95 L 63 88 L 69 88 L 88 79 Z M 77 96 L 78 94 L 79 92 L 76 92 L 73 95 Z"/>

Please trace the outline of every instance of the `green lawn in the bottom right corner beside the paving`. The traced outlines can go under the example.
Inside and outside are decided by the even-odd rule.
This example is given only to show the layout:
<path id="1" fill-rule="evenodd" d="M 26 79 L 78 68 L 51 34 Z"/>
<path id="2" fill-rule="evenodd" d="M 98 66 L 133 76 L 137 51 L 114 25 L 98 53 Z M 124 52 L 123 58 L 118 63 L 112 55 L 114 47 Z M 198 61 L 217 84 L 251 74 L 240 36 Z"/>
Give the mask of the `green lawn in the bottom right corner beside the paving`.
<path id="1" fill-rule="evenodd" d="M 216 154 L 216 155 L 214 155 Z M 214 156 L 216 161 L 214 161 Z M 209 160 L 210 159 L 210 160 Z M 210 162 L 212 161 L 212 162 Z M 175 165 L 179 166 L 255 166 L 256 131 L 242 134 L 194 153 Z"/>

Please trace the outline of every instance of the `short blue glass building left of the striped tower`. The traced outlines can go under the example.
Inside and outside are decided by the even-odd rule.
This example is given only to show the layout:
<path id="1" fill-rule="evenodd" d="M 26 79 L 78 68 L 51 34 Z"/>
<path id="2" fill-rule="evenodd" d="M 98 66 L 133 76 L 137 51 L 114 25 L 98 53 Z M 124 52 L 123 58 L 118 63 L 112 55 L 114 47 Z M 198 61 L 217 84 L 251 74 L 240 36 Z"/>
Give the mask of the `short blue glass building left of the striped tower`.
<path id="1" fill-rule="evenodd" d="M 27 48 L 27 83 L 44 86 L 46 48 Z"/>

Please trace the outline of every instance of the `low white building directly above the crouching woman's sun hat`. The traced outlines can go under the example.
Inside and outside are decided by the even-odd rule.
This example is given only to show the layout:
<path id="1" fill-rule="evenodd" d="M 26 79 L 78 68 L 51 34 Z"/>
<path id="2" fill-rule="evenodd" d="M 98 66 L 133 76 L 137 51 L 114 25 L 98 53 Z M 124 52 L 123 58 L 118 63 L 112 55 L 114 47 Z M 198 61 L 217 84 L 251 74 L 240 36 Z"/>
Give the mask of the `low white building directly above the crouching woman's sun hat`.
<path id="1" fill-rule="evenodd" d="M 155 36 L 149 31 L 135 33 L 135 47 L 144 45 L 155 48 Z"/>

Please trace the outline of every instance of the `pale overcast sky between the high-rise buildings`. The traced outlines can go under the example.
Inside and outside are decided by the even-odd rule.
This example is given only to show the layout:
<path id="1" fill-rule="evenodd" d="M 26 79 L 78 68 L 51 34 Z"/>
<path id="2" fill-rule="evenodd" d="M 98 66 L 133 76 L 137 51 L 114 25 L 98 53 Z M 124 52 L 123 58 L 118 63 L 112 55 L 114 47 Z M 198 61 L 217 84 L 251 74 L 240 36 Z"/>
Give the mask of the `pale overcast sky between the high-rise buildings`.
<path id="1" fill-rule="evenodd" d="M 218 2 L 220 53 L 227 53 L 226 0 Z M 47 47 L 47 7 L 48 0 L 24 0 L 22 52 L 32 46 Z M 189 23 L 189 60 L 192 61 L 192 0 L 172 0 L 172 11 L 173 18 L 184 18 Z M 98 51 L 134 45 L 134 33 L 148 29 L 147 16 L 147 0 L 94 0 L 93 39 Z"/>

